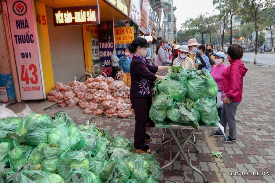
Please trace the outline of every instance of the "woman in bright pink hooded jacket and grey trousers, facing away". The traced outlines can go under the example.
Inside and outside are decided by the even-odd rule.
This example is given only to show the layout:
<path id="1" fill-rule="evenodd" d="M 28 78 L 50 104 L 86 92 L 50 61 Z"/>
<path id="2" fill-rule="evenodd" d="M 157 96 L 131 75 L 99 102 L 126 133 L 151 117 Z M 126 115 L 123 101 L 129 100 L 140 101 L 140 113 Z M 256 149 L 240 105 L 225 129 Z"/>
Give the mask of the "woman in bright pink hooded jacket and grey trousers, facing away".
<path id="1" fill-rule="evenodd" d="M 224 138 L 223 142 L 234 142 L 237 140 L 237 122 L 235 116 L 237 107 L 242 101 L 243 95 L 243 77 L 247 69 L 241 58 L 243 57 L 244 49 L 237 44 L 230 45 L 227 50 L 227 58 L 230 65 L 227 67 L 222 82 L 222 93 L 226 95 L 222 105 L 221 125 L 229 127 L 229 136 Z M 221 129 L 211 133 L 212 136 L 223 136 Z"/>

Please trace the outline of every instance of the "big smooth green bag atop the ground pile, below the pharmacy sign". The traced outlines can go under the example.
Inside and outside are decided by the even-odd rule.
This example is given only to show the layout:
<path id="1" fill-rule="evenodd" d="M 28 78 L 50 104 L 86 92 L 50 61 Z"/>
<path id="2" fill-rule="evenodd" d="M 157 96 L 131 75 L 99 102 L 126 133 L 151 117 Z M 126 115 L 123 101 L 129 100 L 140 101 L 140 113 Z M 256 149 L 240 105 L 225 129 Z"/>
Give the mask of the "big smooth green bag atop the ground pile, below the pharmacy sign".
<path id="1" fill-rule="evenodd" d="M 24 134 L 24 144 L 37 146 L 48 142 L 48 135 L 53 128 L 53 121 L 46 114 L 32 113 L 24 118 L 23 126 L 27 128 Z"/>

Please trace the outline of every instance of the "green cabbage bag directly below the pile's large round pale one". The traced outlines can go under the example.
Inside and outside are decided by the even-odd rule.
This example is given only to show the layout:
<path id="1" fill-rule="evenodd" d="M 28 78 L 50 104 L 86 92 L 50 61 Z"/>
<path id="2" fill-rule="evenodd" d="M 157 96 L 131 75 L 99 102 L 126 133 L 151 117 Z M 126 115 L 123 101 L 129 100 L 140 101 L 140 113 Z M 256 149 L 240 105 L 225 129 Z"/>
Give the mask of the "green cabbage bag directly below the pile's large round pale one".
<path id="1" fill-rule="evenodd" d="M 72 168 L 79 167 L 82 167 L 85 170 L 89 170 L 90 154 L 88 152 L 66 151 L 57 159 L 57 173 L 64 179 L 67 179 L 69 177 L 70 170 Z"/>

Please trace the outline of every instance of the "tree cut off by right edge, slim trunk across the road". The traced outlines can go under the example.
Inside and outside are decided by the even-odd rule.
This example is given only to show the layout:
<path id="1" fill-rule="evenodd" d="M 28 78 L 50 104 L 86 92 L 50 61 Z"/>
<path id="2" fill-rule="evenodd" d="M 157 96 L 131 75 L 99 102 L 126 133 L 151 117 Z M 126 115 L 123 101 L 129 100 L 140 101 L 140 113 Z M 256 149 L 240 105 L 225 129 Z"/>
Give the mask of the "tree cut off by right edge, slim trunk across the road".
<path id="1" fill-rule="evenodd" d="M 275 34 L 275 7 L 271 7 L 262 13 L 263 25 L 271 33 L 272 52 L 274 52 L 273 34 Z"/>

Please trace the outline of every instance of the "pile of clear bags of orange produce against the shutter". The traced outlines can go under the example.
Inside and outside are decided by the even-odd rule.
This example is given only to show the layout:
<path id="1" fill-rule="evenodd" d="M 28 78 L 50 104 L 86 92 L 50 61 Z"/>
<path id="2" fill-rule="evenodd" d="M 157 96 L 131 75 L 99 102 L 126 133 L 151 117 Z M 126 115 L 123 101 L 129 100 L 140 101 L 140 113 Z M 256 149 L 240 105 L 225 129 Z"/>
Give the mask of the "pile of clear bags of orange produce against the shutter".
<path id="1" fill-rule="evenodd" d="M 112 77 L 98 76 L 86 82 L 58 82 L 47 95 L 47 99 L 60 107 L 80 107 L 85 114 L 106 117 L 132 117 L 134 110 L 130 101 L 130 88 Z"/>

